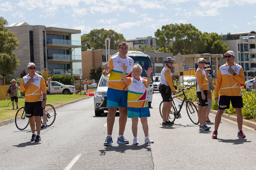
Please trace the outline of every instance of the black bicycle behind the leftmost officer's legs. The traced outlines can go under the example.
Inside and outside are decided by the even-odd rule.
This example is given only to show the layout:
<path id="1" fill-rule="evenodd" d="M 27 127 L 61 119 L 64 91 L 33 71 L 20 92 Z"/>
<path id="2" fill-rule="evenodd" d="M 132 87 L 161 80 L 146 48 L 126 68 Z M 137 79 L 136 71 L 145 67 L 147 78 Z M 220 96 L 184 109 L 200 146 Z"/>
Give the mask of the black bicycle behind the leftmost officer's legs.
<path id="1" fill-rule="evenodd" d="M 45 106 L 45 113 L 46 113 L 46 122 L 47 126 L 51 126 L 54 123 L 56 118 L 56 111 L 55 108 L 50 105 L 46 104 Z M 43 117 L 40 118 L 41 123 L 43 123 Z M 24 130 L 29 125 L 29 118 L 26 117 L 25 107 L 19 108 L 15 116 L 15 125 L 19 130 Z"/>

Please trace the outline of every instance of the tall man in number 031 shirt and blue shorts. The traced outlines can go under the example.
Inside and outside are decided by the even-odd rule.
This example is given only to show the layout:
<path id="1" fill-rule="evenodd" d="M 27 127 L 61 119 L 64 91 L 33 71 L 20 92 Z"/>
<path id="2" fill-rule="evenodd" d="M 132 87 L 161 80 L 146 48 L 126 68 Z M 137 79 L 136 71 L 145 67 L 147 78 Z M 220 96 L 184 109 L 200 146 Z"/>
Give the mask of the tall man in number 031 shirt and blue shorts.
<path id="1" fill-rule="evenodd" d="M 129 144 L 129 141 L 124 138 L 124 129 L 127 121 L 127 95 L 128 86 L 125 85 L 122 74 L 122 63 L 127 65 L 126 77 L 132 77 L 132 67 L 134 66 L 134 61 L 131 57 L 126 54 L 128 52 L 128 44 L 126 42 L 119 43 L 118 47 L 119 54 L 114 55 L 109 59 L 109 67 L 105 64 L 102 74 L 107 76 L 109 73 L 109 86 L 107 91 L 107 138 L 104 142 L 104 146 L 109 146 L 112 144 L 112 130 L 115 122 L 115 115 L 117 108 L 119 107 L 119 136 L 117 138 L 117 143 L 119 144 Z M 109 73 L 107 73 L 109 69 Z"/>

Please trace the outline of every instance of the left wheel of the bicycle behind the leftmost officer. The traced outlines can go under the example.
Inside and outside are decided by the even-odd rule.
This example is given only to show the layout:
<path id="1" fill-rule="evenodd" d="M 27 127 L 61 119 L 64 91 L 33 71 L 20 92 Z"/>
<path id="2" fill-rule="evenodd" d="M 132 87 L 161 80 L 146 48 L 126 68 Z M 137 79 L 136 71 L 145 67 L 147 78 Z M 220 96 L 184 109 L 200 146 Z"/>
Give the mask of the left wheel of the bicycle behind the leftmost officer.
<path id="1" fill-rule="evenodd" d="M 26 118 L 25 107 L 19 108 L 15 115 L 15 125 L 19 130 L 24 130 L 29 125 L 29 118 Z"/>

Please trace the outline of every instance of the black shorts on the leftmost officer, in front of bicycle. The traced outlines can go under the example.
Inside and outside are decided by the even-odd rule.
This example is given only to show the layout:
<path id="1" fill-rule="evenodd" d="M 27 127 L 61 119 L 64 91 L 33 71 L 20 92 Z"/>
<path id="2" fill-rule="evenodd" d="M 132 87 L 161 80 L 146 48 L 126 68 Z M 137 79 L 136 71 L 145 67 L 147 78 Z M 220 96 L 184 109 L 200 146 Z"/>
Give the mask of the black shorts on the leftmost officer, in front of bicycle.
<path id="1" fill-rule="evenodd" d="M 43 116 L 42 101 L 25 102 L 26 117 Z"/>

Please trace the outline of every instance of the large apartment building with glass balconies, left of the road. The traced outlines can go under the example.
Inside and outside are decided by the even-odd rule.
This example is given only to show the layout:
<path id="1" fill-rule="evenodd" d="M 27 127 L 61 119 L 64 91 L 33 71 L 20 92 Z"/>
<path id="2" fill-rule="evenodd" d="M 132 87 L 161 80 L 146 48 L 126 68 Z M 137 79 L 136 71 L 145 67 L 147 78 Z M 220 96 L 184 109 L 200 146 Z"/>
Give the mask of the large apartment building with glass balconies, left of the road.
<path id="1" fill-rule="evenodd" d="M 35 63 L 37 71 L 46 68 L 52 75 L 71 73 L 72 63 L 72 74 L 79 76 L 79 69 L 82 68 L 82 50 L 77 46 L 81 45 L 81 30 L 31 26 L 26 22 L 13 23 L 7 28 L 15 33 L 19 40 L 19 47 L 14 50 L 20 60 L 16 76 L 20 76 L 29 62 Z"/>

